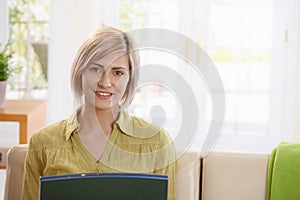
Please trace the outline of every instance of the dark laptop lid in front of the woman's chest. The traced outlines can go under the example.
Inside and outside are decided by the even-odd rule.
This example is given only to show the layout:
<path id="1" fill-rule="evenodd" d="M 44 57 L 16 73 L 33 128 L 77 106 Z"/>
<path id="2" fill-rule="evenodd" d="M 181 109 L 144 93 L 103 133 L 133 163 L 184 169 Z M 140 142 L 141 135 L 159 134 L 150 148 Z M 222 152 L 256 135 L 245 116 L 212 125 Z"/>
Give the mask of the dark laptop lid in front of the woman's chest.
<path id="1" fill-rule="evenodd" d="M 87 173 L 42 176 L 40 200 L 167 200 L 168 176 Z"/>

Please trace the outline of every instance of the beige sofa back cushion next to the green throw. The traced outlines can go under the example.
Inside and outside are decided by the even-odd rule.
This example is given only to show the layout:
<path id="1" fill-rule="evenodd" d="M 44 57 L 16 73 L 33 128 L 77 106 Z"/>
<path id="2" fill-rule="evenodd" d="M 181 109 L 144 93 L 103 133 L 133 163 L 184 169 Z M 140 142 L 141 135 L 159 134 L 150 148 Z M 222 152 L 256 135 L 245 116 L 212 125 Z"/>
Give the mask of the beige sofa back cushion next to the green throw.
<path id="1" fill-rule="evenodd" d="M 203 200 L 265 200 L 269 155 L 212 152 L 203 159 Z"/>

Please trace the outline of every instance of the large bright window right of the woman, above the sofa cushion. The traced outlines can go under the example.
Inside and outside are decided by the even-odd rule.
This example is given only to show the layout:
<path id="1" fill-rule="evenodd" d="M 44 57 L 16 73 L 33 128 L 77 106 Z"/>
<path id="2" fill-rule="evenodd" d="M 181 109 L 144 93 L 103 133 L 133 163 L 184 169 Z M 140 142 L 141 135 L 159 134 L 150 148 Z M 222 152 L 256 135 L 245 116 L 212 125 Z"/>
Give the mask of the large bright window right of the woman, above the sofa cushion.
<path id="1" fill-rule="evenodd" d="M 223 79 L 228 134 L 267 133 L 273 11 L 269 0 L 211 1 L 207 50 Z"/>

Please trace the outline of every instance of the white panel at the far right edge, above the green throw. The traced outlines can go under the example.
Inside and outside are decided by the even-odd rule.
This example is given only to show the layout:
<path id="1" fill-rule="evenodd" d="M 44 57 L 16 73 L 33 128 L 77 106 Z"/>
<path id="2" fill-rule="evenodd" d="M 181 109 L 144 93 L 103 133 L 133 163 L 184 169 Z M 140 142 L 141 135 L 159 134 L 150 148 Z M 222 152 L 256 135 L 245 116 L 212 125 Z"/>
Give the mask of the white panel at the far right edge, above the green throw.
<path id="1" fill-rule="evenodd" d="M 275 1 L 270 139 L 299 141 L 300 3 Z"/>

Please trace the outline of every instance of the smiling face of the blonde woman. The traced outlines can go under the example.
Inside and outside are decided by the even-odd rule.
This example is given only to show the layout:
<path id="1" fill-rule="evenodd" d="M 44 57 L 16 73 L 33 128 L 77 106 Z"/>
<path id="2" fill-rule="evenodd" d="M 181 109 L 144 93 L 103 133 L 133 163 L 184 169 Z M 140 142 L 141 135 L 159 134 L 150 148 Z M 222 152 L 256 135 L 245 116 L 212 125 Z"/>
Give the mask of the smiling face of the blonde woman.
<path id="1" fill-rule="evenodd" d="M 82 74 L 82 88 L 85 106 L 97 110 L 118 107 L 130 77 L 129 58 L 108 56 L 89 64 Z"/>

